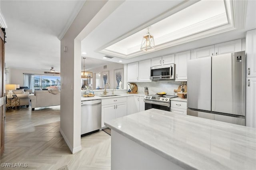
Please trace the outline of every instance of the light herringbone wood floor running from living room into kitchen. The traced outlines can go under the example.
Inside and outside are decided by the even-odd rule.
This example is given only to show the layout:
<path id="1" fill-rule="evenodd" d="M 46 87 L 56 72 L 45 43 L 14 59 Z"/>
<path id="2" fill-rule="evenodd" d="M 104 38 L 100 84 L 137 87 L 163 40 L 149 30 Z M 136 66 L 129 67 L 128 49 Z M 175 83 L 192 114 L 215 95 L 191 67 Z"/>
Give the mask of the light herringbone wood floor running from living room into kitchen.
<path id="1" fill-rule="evenodd" d="M 6 112 L 5 150 L 0 163 L 27 163 L 28 167 L 0 169 L 56 170 L 67 165 L 69 170 L 110 170 L 108 134 L 100 130 L 82 137 L 82 151 L 72 154 L 59 129 L 59 106 Z"/>

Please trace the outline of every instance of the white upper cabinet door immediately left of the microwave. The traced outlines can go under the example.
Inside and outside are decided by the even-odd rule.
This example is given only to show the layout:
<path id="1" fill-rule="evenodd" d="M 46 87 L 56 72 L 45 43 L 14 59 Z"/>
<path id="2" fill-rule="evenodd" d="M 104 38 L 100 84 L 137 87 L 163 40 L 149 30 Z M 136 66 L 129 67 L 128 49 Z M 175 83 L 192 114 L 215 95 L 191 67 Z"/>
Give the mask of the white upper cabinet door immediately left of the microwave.
<path id="1" fill-rule="evenodd" d="M 139 81 L 151 81 L 150 66 L 151 59 L 139 61 Z"/>

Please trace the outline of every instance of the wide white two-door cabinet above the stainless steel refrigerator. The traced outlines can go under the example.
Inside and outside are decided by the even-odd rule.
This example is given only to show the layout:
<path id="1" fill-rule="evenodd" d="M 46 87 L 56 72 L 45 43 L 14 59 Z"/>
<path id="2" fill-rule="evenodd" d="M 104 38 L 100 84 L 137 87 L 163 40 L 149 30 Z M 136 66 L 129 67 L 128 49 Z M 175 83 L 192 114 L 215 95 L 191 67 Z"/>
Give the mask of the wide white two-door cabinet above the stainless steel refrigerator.
<path id="1" fill-rule="evenodd" d="M 191 50 L 191 59 L 242 51 L 242 40 L 219 43 Z"/>

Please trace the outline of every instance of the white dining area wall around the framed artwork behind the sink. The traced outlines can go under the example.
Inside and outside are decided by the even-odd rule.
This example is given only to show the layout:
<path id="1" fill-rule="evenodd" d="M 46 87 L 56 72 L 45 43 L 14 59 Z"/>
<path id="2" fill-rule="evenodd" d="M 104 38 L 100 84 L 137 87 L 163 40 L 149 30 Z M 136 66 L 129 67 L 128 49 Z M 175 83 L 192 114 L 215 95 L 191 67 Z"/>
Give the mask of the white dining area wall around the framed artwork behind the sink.
<path id="1" fill-rule="evenodd" d="M 120 63 L 108 63 L 106 64 L 107 65 L 107 68 L 104 69 L 104 67 L 97 67 L 97 68 L 94 68 L 94 69 L 90 69 L 88 71 L 91 71 L 92 73 L 100 73 L 100 80 L 101 80 L 101 83 L 100 83 L 100 87 L 101 88 L 104 88 L 102 87 L 102 71 L 109 71 L 109 84 L 110 84 L 110 89 L 113 89 L 114 88 L 114 81 L 115 81 L 115 77 L 114 77 L 114 70 L 115 69 L 123 69 L 124 68 L 124 64 L 120 64 Z M 96 75 L 94 76 L 93 75 L 93 82 L 95 81 L 96 83 Z M 93 85 L 94 87 L 94 85 Z"/>

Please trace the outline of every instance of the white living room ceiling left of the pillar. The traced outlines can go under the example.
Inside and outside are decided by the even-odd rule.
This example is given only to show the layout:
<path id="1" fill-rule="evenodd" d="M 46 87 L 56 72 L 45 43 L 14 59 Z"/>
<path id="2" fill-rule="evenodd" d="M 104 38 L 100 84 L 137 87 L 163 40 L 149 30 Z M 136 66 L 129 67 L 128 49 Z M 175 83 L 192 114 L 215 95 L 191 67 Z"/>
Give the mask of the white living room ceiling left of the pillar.
<path id="1" fill-rule="evenodd" d="M 6 20 L 6 67 L 60 70 L 60 40 L 80 11 L 81 0 L 1 0 Z"/>

